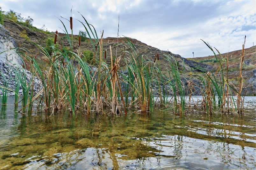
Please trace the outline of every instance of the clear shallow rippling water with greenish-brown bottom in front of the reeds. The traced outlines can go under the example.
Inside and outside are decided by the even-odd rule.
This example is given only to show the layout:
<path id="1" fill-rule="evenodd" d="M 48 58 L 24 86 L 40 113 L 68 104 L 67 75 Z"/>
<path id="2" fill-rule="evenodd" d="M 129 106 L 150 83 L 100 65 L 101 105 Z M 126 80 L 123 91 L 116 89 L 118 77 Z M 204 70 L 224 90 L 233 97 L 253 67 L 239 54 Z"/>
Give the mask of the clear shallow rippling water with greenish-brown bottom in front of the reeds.
<path id="1" fill-rule="evenodd" d="M 0 107 L 0 169 L 255 169 L 256 99 L 244 114 L 125 116 Z"/>

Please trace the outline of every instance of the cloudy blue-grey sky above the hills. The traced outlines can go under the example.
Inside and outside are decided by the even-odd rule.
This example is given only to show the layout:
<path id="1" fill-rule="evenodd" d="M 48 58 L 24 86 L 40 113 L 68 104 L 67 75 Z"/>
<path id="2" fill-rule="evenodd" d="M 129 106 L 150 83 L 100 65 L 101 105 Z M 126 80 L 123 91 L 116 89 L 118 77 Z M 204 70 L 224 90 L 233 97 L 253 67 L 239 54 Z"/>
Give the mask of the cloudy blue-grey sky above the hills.
<path id="1" fill-rule="evenodd" d="M 63 32 L 59 19 L 70 31 L 60 16 L 72 16 L 74 34 L 85 31 L 80 12 L 99 36 L 104 30 L 103 38 L 117 37 L 119 16 L 119 35 L 183 57 L 212 55 L 200 39 L 221 53 L 242 49 L 245 35 L 245 48 L 256 45 L 255 0 L 1 0 L 0 6 L 50 31 Z"/>

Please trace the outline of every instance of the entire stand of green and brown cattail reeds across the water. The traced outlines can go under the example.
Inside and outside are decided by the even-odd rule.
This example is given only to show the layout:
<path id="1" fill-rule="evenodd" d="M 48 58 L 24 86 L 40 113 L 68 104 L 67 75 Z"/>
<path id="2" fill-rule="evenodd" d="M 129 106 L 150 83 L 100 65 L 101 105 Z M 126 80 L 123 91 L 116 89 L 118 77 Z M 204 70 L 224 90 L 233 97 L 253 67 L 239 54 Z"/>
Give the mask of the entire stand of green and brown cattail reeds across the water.
<path id="1" fill-rule="evenodd" d="M 96 71 L 93 71 L 90 68 L 91 66 L 82 60 L 83 57 L 82 54 L 80 54 L 81 37 L 79 37 L 78 47 L 73 45 L 73 18 L 70 17 L 71 37 L 69 36 L 65 25 L 62 23 L 69 43 L 68 49 L 65 48 L 61 39 L 60 41 L 57 41 L 57 30 L 55 32 L 53 44 L 48 47 L 52 49 L 51 54 L 47 52 L 46 47 L 37 44 L 41 52 L 47 58 L 47 62 L 50 64 L 49 69 L 41 70 L 34 56 L 27 56 L 27 52 L 19 53 L 20 55 L 23 55 L 23 58 L 25 58 L 25 60 L 30 64 L 33 76 L 38 76 L 41 79 L 43 87 L 41 91 L 34 95 L 33 80 L 27 80 L 23 68 L 16 69 L 17 77 L 19 77 L 17 86 L 20 84 L 23 90 L 23 112 L 25 112 L 26 109 L 31 111 L 33 101 L 38 99 L 40 102 L 42 101 L 42 103 L 44 103 L 44 109 L 46 111 L 69 108 L 70 112 L 73 114 L 80 109 L 82 109 L 84 113 L 90 114 L 91 107 L 94 106 L 96 108 L 95 112 L 98 114 L 105 113 L 103 106 L 104 108 L 110 106 L 111 111 L 109 112 L 111 112 L 111 115 L 121 113 L 120 106 L 122 104 L 124 106 L 125 113 L 125 108 L 128 106 L 130 108 L 136 107 L 142 113 L 145 113 L 147 111 L 152 111 L 153 106 L 167 108 L 170 106 L 169 104 L 172 100 L 171 106 L 174 109 L 174 112 L 179 112 L 180 114 L 185 113 L 185 81 L 187 80 L 185 79 L 184 61 L 184 74 L 181 78 L 179 72 L 180 66 L 178 67 L 174 57 L 171 55 L 165 55 L 165 59 L 171 66 L 171 69 L 167 70 L 169 75 L 165 75 L 162 72 L 163 68 L 160 67 L 159 57 L 161 56 L 159 56 L 157 52 L 154 55 L 154 60 L 149 60 L 146 56 L 141 56 L 135 45 L 129 40 L 129 38 L 125 37 L 124 43 L 128 48 L 124 49 L 124 54 L 125 57 L 127 57 L 125 64 L 128 73 L 127 75 L 118 73 L 121 57 L 116 56 L 116 61 L 113 61 L 112 49 L 110 46 L 111 65 L 108 65 L 106 63 L 107 50 L 103 49 L 103 32 L 99 40 L 94 27 L 90 25 L 86 19 L 84 19 L 84 21 L 85 23 L 81 23 L 84 26 L 94 48 L 93 65 L 97 66 Z M 58 44 L 60 45 L 59 48 L 57 48 Z M 213 51 L 209 44 L 206 43 L 206 45 Z M 77 53 L 73 50 L 75 48 L 79 48 Z M 212 113 L 212 108 L 215 107 L 215 105 L 217 105 L 221 112 L 225 112 L 226 100 L 228 100 L 227 104 L 229 104 L 228 94 L 230 85 L 228 77 L 224 77 L 224 69 L 222 68 L 222 62 L 224 60 L 217 59 L 215 53 L 214 55 L 219 64 L 217 72 L 212 74 L 210 71 L 206 71 L 205 69 L 201 70 L 204 74 L 201 77 L 202 84 L 204 86 L 201 88 L 203 96 L 201 106 L 205 107 L 210 114 Z M 243 58 L 240 65 L 242 65 L 242 62 Z M 242 68 L 240 68 L 240 75 L 241 69 Z M 119 75 L 122 76 L 122 79 L 119 78 Z M 218 76 L 219 78 L 217 78 Z M 239 100 L 237 100 L 237 106 L 240 106 L 242 75 L 240 76 L 239 81 Z M 121 82 L 124 83 L 124 91 L 122 91 Z M 155 83 L 158 89 L 158 97 L 155 99 L 152 90 L 153 83 Z M 173 96 L 170 101 L 167 101 L 168 91 L 165 87 L 167 85 L 173 91 Z M 193 83 L 191 81 L 188 81 L 188 87 L 190 108 L 190 98 L 194 90 Z M 3 89 L 6 90 L 6 88 L 2 88 L 2 91 Z M 225 89 L 227 90 L 226 96 L 224 95 Z M 16 93 L 18 94 L 18 92 Z M 121 97 L 121 100 L 118 100 L 119 96 Z M 217 96 L 217 102 L 215 101 L 215 96 Z M 130 101 L 128 100 L 129 97 L 131 98 Z M 234 99 L 232 98 L 232 100 L 233 102 L 231 103 L 233 105 Z M 158 101 L 159 105 L 156 104 Z M 195 102 L 194 108 L 196 108 Z M 240 111 L 238 112 L 241 112 L 241 108 L 238 107 L 238 110 L 239 109 Z M 227 109 L 227 112 L 228 111 L 229 108 Z"/>

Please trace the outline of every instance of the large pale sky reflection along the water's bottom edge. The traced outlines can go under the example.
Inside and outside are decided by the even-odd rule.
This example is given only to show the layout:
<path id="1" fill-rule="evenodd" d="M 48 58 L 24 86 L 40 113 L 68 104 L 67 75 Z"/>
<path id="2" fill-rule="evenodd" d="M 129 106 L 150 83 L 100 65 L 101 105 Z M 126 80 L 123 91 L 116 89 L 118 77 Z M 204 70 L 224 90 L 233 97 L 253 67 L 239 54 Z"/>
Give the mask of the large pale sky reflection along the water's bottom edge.
<path id="1" fill-rule="evenodd" d="M 244 169 L 255 166 L 252 160 L 255 160 L 255 156 L 250 156 L 249 161 L 246 159 L 246 155 L 253 151 L 252 148 L 244 148 L 241 152 L 241 148 L 233 144 L 188 137 L 181 142 L 175 140 L 178 138 L 177 135 L 163 135 L 161 139 L 144 139 L 142 144 L 159 151 L 154 157 L 131 160 L 127 159 L 128 155 L 115 154 L 108 148 L 89 147 L 45 156 L 42 160 L 32 160 L 25 169 Z"/>

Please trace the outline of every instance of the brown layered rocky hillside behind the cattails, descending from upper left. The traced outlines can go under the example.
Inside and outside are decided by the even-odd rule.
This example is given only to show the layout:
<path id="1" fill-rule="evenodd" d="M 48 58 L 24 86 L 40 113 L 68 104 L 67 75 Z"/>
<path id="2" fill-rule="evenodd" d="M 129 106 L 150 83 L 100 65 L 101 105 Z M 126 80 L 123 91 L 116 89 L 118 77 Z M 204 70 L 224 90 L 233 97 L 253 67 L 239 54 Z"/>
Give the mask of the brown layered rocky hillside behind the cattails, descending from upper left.
<path id="1" fill-rule="evenodd" d="M 10 20 L 7 20 L 5 19 L 4 20 L 4 27 L 10 31 L 11 33 L 11 36 L 13 36 L 13 38 L 15 39 L 16 43 L 17 43 L 17 46 L 18 47 L 21 47 L 21 48 L 24 48 L 24 49 L 28 49 L 32 54 L 33 56 L 36 56 L 38 61 L 39 61 L 39 64 L 42 66 L 42 67 L 46 67 L 47 66 L 47 63 L 44 62 L 44 59 L 46 59 L 44 57 L 43 54 L 40 53 L 40 50 L 38 48 L 35 48 L 36 44 L 39 44 L 39 45 L 42 45 L 42 46 L 45 46 L 45 42 L 46 42 L 46 38 L 50 37 L 50 38 L 54 38 L 54 34 L 45 34 L 45 33 L 42 33 L 42 32 L 37 32 L 37 31 L 34 31 L 34 30 L 31 30 L 27 27 L 24 27 L 22 25 L 19 25 L 13 21 L 10 21 Z M 21 33 L 25 30 L 25 33 L 27 35 L 27 37 L 29 38 L 29 41 L 26 40 L 26 38 L 22 37 L 21 36 Z M 64 44 L 64 46 L 68 47 L 69 44 L 68 44 L 68 41 L 66 39 L 62 39 L 63 37 L 65 37 L 66 35 L 63 34 L 63 33 L 59 33 L 58 34 L 58 39 L 57 39 L 57 43 L 60 44 L 60 41 L 62 41 L 62 43 Z M 81 47 L 79 49 L 79 46 L 78 46 L 78 41 L 76 39 L 77 36 L 74 35 L 73 36 L 74 38 L 74 42 L 73 42 L 73 45 L 74 45 L 74 48 L 75 50 L 77 51 L 80 51 L 80 53 L 84 50 L 90 50 L 92 52 L 94 52 L 94 48 L 92 46 L 92 43 L 90 42 L 89 39 L 87 39 L 85 42 L 81 42 Z M 106 62 L 107 63 L 110 63 L 110 45 L 111 45 L 111 48 L 112 48 L 112 55 L 113 56 L 122 56 L 123 55 L 123 51 L 124 49 L 127 50 L 129 47 L 127 46 L 127 44 L 124 42 L 124 40 L 126 40 L 125 38 L 112 38 L 112 37 L 107 37 L 107 38 L 104 38 L 103 39 L 103 49 L 106 49 L 107 50 L 107 57 L 106 57 Z M 166 61 L 164 60 L 164 57 L 165 55 L 172 55 L 175 57 L 176 61 L 180 62 L 180 64 L 183 66 L 182 64 L 182 60 L 183 58 L 180 56 L 180 55 L 174 55 L 172 54 L 171 52 L 169 51 L 161 51 L 157 48 L 154 48 L 152 46 L 149 46 L 143 42 L 140 42 L 136 39 L 133 39 L 133 38 L 129 38 L 130 42 L 132 42 L 136 48 L 137 48 L 137 51 L 138 51 L 138 54 L 140 55 L 143 55 L 145 57 L 148 57 L 149 60 L 153 61 L 154 60 L 154 55 L 156 53 L 159 54 L 159 59 L 160 59 L 160 66 L 161 68 L 163 69 L 166 69 L 167 68 L 170 68 L 169 65 L 166 65 Z M 117 43 L 118 42 L 118 43 Z M 95 44 L 96 45 L 96 44 Z M 59 45 L 61 46 L 61 45 Z M 116 55 L 116 52 L 117 52 L 117 55 Z M 129 57 L 129 56 L 123 56 L 123 59 L 126 58 L 126 57 Z M 207 64 L 202 64 L 200 62 L 194 62 L 194 61 L 188 61 L 185 59 L 185 63 L 188 63 L 186 64 L 186 70 L 191 70 L 190 67 L 204 67 L 204 68 L 208 68 L 208 65 Z M 121 62 L 121 67 L 124 66 L 124 62 Z M 42 68 L 44 69 L 44 68 Z"/>

